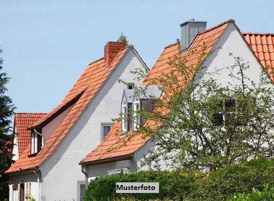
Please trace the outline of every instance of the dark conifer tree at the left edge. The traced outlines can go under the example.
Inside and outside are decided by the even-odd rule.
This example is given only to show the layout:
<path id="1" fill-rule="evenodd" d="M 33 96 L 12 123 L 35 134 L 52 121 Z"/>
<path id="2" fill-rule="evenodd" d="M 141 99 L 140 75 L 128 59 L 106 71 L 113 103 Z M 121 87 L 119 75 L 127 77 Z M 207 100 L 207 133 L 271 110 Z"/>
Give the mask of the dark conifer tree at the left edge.
<path id="1" fill-rule="evenodd" d="M 2 53 L 2 49 L 0 49 Z M 11 117 L 15 107 L 12 99 L 6 95 L 6 84 L 10 78 L 3 72 L 3 58 L 0 58 L 0 200 L 9 198 L 9 178 L 4 172 L 12 164 L 13 135 L 11 132 Z"/>

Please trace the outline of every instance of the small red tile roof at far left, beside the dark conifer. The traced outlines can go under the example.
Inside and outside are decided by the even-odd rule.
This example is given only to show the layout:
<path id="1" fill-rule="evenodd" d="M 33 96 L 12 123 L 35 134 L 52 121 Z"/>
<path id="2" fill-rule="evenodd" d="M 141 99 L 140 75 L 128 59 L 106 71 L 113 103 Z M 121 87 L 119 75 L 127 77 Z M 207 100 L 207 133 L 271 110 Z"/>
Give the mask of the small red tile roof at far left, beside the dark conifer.
<path id="1" fill-rule="evenodd" d="M 16 126 L 19 156 L 30 144 L 31 131 L 27 128 L 45 115 L 45 113 L 15 113 L 14 125 Z"/>

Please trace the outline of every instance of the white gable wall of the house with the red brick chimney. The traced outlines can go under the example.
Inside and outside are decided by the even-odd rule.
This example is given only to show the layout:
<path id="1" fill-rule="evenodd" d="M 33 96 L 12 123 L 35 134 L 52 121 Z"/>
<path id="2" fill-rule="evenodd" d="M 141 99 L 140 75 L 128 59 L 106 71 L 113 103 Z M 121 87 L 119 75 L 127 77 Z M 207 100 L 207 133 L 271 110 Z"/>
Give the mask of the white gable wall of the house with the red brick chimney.
<path id="1" fill-rule="evenodd" d="M 85 180 L 78 163 L 100 143 L 100 123 L 112 122 L 121 111 L 125 85 L 118 79 L 134 82 L 130 71 L 140 67 L 143 64 L 129 50 L 59 148 L 41 166 L 43 201 L 77 200 L 77 180 Z"/>

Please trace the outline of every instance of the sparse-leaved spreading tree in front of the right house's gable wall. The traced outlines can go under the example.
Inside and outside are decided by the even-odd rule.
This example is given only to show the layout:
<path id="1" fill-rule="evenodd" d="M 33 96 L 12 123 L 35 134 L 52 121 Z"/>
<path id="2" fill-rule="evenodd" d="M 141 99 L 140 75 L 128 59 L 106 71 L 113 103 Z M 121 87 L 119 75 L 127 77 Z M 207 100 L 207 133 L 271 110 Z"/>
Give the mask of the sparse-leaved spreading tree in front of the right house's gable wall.
<path id="1" fill-rule="evenodd" d="M 171 57 L 169 73 L 146 77 L 162 95 L 152 112 L 139 112 L 145 124 L 127 134 L 127 140 L 141 133 L 155 142 L 143 165 L 159 168 L 162 159 L 171 168 L 214 170 L 258 156 L 273 158 L 274 88 L 267 74 L 262 70 L 255 82 L 247 76 L 249 63 L 233 54 L 233 65 L 207 73 L 203 61 L 211 53 L 201 49 L 199 55 L 193 50 Z M 225 69 L 224 77 L 235 83 L 214 79 Z M 145 75 L 134 73 L 138 79 Z"/>

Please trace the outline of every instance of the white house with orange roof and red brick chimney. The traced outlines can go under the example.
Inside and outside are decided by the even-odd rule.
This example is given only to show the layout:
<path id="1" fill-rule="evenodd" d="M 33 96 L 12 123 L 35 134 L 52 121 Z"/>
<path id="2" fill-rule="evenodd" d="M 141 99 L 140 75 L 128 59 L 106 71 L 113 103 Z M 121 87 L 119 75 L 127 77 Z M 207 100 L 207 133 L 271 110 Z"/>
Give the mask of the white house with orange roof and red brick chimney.
<path id="1" fill-rule="evenodd" d="M 28 128 L 31 144 L 6 171 L 10 200 L 82 200 L 85 170 L 78 163 L 120 114 L 120 80 L 128 89 L 140 84 L 131 73 L 136 68 L 148 70 L 132 45 L 106 43 L 104 57 L 91 62 L 61 103 Z"/>

